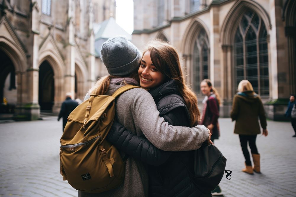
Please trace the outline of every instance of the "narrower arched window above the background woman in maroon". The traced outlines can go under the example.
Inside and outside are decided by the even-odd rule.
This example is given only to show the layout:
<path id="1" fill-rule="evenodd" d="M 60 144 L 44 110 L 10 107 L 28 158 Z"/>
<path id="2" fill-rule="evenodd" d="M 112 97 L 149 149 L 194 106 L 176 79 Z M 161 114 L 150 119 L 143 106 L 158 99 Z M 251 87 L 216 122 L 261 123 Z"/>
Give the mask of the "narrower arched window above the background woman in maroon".
<path id="1" fill-rule="evenodd" d="M 193 49 L 193 89 L 200 94 L 200 82 L 209 78 L 209 41 L 204 29 L 198 33 Z"/>

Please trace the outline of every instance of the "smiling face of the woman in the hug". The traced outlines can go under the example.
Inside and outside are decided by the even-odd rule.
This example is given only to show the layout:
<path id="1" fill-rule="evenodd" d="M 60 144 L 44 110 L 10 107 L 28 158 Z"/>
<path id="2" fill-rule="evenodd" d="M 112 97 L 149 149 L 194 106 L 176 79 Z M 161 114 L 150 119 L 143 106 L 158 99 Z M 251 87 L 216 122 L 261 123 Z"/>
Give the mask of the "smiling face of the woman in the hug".
<path id="1" fill-rule="evenodd" d="M 165 75 L 158 71 L 150 58 L 150 51 L 144 53 L 138 70 L 140 85 L 143 88 L 154 88 L 163 84 Z"/>

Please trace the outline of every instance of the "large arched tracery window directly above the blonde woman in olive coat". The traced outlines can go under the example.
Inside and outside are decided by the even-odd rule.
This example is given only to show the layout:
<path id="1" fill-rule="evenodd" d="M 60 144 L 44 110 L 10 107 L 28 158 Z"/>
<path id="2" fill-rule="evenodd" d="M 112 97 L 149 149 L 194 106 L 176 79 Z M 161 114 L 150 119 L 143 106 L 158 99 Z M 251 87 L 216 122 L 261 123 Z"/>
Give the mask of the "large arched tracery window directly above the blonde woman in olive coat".
<path id="1" fill-rule="evenodd" d="M 267 31 L 262 19 L 244 12 L 234 38 L 235 87 L 249 80 L 260 95 L 269 95 Z M 236 89 L 236 88 L 235 88 Z"/>

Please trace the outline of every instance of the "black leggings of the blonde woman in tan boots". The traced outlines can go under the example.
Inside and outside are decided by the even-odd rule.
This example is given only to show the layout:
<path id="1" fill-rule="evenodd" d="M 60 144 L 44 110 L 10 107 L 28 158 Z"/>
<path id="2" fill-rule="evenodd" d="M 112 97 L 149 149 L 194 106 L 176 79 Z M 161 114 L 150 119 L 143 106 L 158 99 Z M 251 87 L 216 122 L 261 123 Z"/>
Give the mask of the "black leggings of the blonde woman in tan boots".
<path id="1" fill-rule="evenodd" d="M 256 146 L 256 137 L 257 135 L 239 135 L 239 140 L 242 146 L 242 153 L 246 159 L 246 165 L 252 166 L 250 154 L 247 147 L 247 142 L 249 141 L 249 146 L 252 154 L 259 154 Z"/>

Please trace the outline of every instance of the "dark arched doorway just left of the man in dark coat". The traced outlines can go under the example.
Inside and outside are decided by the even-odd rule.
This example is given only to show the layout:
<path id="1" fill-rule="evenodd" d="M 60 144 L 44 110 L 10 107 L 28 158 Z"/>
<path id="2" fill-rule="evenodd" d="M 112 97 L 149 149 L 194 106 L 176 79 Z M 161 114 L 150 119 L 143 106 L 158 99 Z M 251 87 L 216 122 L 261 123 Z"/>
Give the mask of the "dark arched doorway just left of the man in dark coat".
<path id="1" fill-rule="evenodd" d="M 44 61 L 39 69 L 40 110 L 52 111 L 54 104 L 54 71 L 47 61 Z"/>

